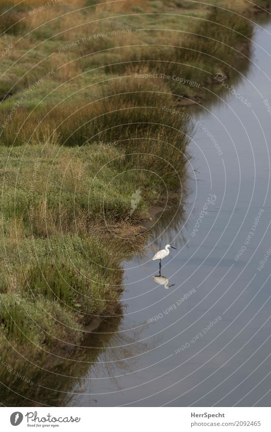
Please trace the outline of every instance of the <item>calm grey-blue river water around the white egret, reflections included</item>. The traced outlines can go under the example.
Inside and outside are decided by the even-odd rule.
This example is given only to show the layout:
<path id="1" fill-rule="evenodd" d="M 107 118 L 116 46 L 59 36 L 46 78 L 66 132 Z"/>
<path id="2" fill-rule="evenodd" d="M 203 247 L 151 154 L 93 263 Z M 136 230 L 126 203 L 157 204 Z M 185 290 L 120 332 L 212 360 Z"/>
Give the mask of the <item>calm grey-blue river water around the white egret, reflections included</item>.
<path id="1" fill-rule="evenodd" d="M 66 364 L 37 370 L 39 392 L 30 399 L 271 405 L 270 41 L 271 23 L 256 24 L 249 70 L 235 85 L 249 106 L 224 91 L 187 111 L 200 124 L 189 148 L 185 211 L 159 215 L 142 253 L 124 263 L 124 316 L 86 337 Z M 159 262 L 151 258 L 167 243 L 177 250 L 154 279 Z"/>

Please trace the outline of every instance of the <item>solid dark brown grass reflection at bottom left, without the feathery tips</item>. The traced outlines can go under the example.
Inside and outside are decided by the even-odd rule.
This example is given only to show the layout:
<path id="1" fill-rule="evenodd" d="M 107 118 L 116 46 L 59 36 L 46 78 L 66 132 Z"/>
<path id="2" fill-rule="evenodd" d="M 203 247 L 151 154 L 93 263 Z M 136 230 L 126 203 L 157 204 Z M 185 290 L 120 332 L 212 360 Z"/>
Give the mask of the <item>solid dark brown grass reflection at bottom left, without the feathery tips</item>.
<path id="1" fill-rule="evenodd" d="M 116 331 L 122 317 L 118 316 L 110 320 L 110 329 L 112 332 Z M 104 331 L 109 331 L 107 323 L 101 326 Z M 104 334 L 99 338 L 99 334 L 92 335 L 93 347 L 106 346 L 109 343 L 113 333 Z M 9 372 L 4 368 L 1 363 L 1 380 L 5 386 L 9 387 L 14 392 L 8 390 L 7 387 L 1 386 L 0 395 L 1 400 L 8 401 L 9 406 L 63 406 L 67 404 L 69 396 L 65 392 L 72 391 L 76 383 L 80 383 L 80 378 L 87 374 L 89 367 L 92 363 L 96 362 L 101 349 L 83 349 L 78 348 L 69 354 L 66 350 L 58 350 L 51 355 L 44 353 L 43 359 L 39 360 L 39 366 L 35 366 L 30 362 L 24 361 L 22 358 L 14 358 L 13 350 L 5 344 L 5 358 L 9 365 L 12 366 L 13 371 L 17 370 L 22 375 L 25 375 L 34 382 L 33 386 L 29 386 L 25 382 L 18 379 L 13 375 L 13 371 Z M 64 360 L 66 359 L 66 360 Z M 40 387 L 44 386 L 44 387 Z M 48 388 L 53 388 L 56 391 L 51 391 Z M 58 393 L 57 390 L 63 391 Z M 25 398 L 33 400 L 26 400 Z M 37 402 L 37 403 L 36 403 Z"/>

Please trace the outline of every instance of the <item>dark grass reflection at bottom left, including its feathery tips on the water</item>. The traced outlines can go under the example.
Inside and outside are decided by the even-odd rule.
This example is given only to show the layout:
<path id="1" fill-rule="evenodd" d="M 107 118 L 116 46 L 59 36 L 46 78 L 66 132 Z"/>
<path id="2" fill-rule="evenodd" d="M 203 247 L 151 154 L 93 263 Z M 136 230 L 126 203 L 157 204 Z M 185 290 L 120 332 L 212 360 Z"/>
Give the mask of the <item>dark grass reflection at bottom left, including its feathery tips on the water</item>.
<path id="1" fill-rule="evenodd" d="M 56 356 L 59 356 L 58 358 L 53 355 L 44 356 L 43 361 L 39 362 L 39 367 L 25 362 L 22 358 L 15 360 L 13 351 L 6 345 L 4 360 L 12 365 L 13 370 L 9 372 L 0 363 L 1 380 L 4 384 L 0 389 L 1 400 L 5 400 L 5 405 L 17 407 L 42 406 L 42 404 L 59 407 L 69 406 L 71 403 L 74 404 L 71 402 L 73 399 L 76 401 L 78 398 L 81 398 L 80 401 L 84 404 L 84 400 L 88 401 L 91 396 L 85 396 L 87 398 L 85 399 L 79 393 L 83 393 L 83 389 L 85 392 L 91 393 L 90 379 L 93 374 L 94 377 L 98 375 L 100 368 L 102 368 L 103 376 L 110 377 L 110 380 L 113 380 L 114 385 L 118 387 L 118 380 L 114 379 L 116 370 L 118 373 L 119 370 L 124 373 L 132 372 L 132 366 L 134 367 L 137 361 L 137 358 L 132 359 L 133 355 L 138 355 L 140 352 L 152 348 L 149 344 L 134 344 L 135 340 L 140 339 L 140 330 L 132 331 L 130 335 L 127 332 L 115 335 L 114 332 L 119 328 L 122 319 L 122 316 L 111 318 L 99 327 L 98 333 L 86 335 L 82 341 L 85 348 L 79 347 L 70 355 L 67 355 L 67 351 L 58 351 L 55 353 Z M 130 347 L 121 346 L 129 343 Z M 120 345 L 120 348 L 106 350 L 107 345 Z M 106 355 L 104 355 L 105 350 Z M 66 360 L 63 360 L 62 357 Z M 101 358 L 102 361 L 108 363 L 99 366 L 96 362 Z M 125 360 L 126 358 L 129 360 Z M 29 378 L 34 382 L 34 385 L 29 386 L 17 378 L 13 375 L 14 370 Z M 69 394 L 69 392 L 78 393 L 78 396 Z M 28 399 L 33 400 L 33 402 Z"/>

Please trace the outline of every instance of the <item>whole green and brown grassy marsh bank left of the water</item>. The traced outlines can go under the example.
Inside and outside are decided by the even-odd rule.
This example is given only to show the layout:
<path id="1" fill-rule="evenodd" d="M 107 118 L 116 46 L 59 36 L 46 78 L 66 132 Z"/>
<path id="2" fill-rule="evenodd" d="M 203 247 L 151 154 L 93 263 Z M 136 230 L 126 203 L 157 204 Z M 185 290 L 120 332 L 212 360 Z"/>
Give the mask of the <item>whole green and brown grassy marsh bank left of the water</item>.
<path id="1" fill-rule="evenodd" d="M 0 5 L 1 51 L 12 45 L 0 64 L 0 320 L 13 346 L 35 353 L 78 342 L 93 316 L 116 310 L 122 253 L 143 241 L 138 222 L 186 177 L 191 125 L 162 106 L 208 99 L 220 71 L 237 76 L 252 26 L 175 0 L 78 11 L 95 2 L 62 1 L 35 13 L 45 2 L 8 10 L 15 3 Z M 247 13 L 243 0 L 215 3 Z"/>

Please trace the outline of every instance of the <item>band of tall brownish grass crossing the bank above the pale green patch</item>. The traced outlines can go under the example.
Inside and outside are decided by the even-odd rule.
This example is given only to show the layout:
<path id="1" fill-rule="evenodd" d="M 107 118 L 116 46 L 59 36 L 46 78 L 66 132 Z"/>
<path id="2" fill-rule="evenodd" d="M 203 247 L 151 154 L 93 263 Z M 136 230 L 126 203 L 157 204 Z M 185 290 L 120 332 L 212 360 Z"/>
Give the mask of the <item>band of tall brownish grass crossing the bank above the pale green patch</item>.
<path id="1" fill-rule="evenodd" d="M 125 123 L 133 124 L 131 131 L 136 130 L 136 123 L 140 123 L 141 130 L 146 127 L 155 130 L 147 123 L 159 122 L 163 118 L 161 106 L 166 101 L 172 104 L 171 93 L 165 81 L 135 78 L 132 70 L 127 71 L 130 77 L 108 83 L 104 98 L 100 101 L 91 103 L 85 99 L 72 104 L 71 97 L 57 106 L 35 110 L 28 118 L 26 110 L 18 109 L 4 130 L 4 142 L 6 145 L 16 145 L 28 139 L 35 142 L 33 137 L 41 140 L 44 134 L 48 139 L 48 130 L 51 133 L 56 131 L 60 142 L 66 145 L 82 145 L 92 136 L 96 136 L 95 140 L 108 141 L 122 135 L 121 128 L 115 126 Z M 8 115 L 9 110 L 3 111 L 4 119 Z M 166 116 L 166 124 L 172 121 L 175 121 L 174 118 Z"/>

